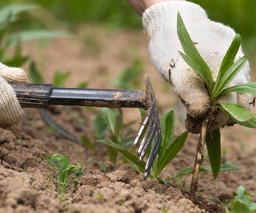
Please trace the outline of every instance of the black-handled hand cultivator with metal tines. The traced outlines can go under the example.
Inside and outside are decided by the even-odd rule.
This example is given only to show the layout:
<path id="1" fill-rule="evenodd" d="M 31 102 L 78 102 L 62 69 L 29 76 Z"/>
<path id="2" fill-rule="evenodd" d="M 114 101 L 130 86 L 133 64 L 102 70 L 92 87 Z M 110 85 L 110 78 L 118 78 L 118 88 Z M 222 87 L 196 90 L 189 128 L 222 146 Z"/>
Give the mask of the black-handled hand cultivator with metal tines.
<path id="1" fill-rule="evenodd" d="M 150 173 L 150 168 L 161 146 L 162 135 L 158 117 L 154 90 L 149 77 L 146 77 L 146 91 L 115 90 L 115 89 L 68 89 L 52 88 L 51 85 L 12 84 L 23 108 L 48 108 L 51 105 L 94 106 L 107 108 L 144 108 L 146 118 L 134 140 L 138 148 L 139 160 L 143 160 L 146 151 L 152 145 L 150 156 L 146 162 L 144 177 Z"/>

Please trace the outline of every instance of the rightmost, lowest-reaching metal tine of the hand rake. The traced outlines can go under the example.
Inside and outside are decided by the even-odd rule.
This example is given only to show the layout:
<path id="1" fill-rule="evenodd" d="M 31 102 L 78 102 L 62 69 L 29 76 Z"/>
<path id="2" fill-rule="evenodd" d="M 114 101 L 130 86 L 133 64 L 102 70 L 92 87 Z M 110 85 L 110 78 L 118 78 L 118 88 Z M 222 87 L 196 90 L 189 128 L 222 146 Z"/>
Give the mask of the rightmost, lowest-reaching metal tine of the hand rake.
<path id="1" fill-rule="evenodd" d="M 158 129 L 159 130 L 159 129 Z M 154 159 L 158 154 L 158 149 L 161 147 L 161 142 L 162 142 L 162 136 L 161 136 L 161 132 L 157 132 L 156 138 L 154 140 L 154 146 L 150 152 L 150 156 L 149 159 L 146 162 L 146 167 L 145 167 L 145 171 L 144 171 L 144 178 L 146 179 L 146 177 L 149 175 L 150 173 L 150 169 L 154 163 Z"/>

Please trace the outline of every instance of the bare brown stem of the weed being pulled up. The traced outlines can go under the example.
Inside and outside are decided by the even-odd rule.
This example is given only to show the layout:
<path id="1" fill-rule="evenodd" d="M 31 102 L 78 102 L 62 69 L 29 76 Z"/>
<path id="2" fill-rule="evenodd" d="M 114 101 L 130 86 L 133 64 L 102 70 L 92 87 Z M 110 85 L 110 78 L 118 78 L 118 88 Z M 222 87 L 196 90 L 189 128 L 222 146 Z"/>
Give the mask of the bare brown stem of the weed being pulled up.
<path id="1" fill-rule="evenodd" d="M 198 174 L 199 169 L 203 161 L 203 150 L 206 144 L 206 132 L 207 132 L 208 119 L 202 122 L 201 133 L 198 140 L 198 147 L 196 152 L 196 157 L 194 160 L 194 169 L 193 176 L 191 181 L 191 189 L 190 189 L 190 199 L 194 200 L 196 198 L 196 191 L 198 190 Z"/>

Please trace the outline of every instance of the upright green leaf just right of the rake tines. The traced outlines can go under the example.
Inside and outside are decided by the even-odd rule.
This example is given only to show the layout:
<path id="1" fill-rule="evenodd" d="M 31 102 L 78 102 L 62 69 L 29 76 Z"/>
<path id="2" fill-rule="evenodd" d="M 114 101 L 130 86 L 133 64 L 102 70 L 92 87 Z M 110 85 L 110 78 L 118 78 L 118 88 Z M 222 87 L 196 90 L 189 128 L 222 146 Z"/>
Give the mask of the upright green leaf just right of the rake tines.
<path id="1" fill-rule="evenodd" d="M 163 114 L 161 117 L 162 124 L 162 146 L 160 152 L 165 152 L 166 148 L 173 142 L 174 140 L 174 127 L 175 127 L 175 114 L 174 110 L 169 110 Z"/>

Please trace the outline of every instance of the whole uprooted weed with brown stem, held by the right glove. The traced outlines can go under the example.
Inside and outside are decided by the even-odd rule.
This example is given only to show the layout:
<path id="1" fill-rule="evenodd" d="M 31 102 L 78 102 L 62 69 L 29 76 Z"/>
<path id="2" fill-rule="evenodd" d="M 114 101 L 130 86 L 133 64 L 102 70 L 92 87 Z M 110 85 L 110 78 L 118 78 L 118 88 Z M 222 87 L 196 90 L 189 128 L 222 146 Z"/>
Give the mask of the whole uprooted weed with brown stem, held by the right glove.
<path id="1" fill-rule="evenodd" d="M 241 45 L 241 37 L 236 34 L 232 41 L 230 48 L 227 50 L 225 57 L 223 58 L 222 65 L 218 72 L 217 80 L 214 82 L 212 72 L 206 62 L 202 59 L 198 49 L 195 48 L 190 34 L 186 30 L 186 26 L 182 21 L 181 15 L 178 13 L 177 31 L 178 37 L 181 41 L 184 53 L 180 52 L 182 58 L 191 69 L 198 74 L 200 78 L 205 82 L 206 89 L 210 96 L 211 107 L 206 113 L 201 124 L 201 133 L 198 140 L 198 148 L 196 154 L 196 160 L 194 163 L 194 172 L 191 183 L 190 198 L 195 199 L 195 192 L 198 187 L 198 172 L 202 164 L 203 149 L 206 144 L 210 166 L 214 179 L 218 177 L 218 173 L 221 168 L 221 137 L 219 128 L 214 132 L 208 132 L 210 123 L 214 121 L 215 114 L 218 110 L 225 112 L 227 116 L 234 122 L 246 126 L 249 128 L 256 128 L 256 116 L 246 108 L 240 105 L 223 103 L 218 101 L 220 97 L 223 97 L 227 93 L 256 93 L 256 83 L 250 82 L 242 85 L 234 85 L 230 87 L 230 83 L 234 80 L 246 65 L 246 57 L 241 57 L 238 61 L 234 61 L 238 53 L 238 49 Z"/>

